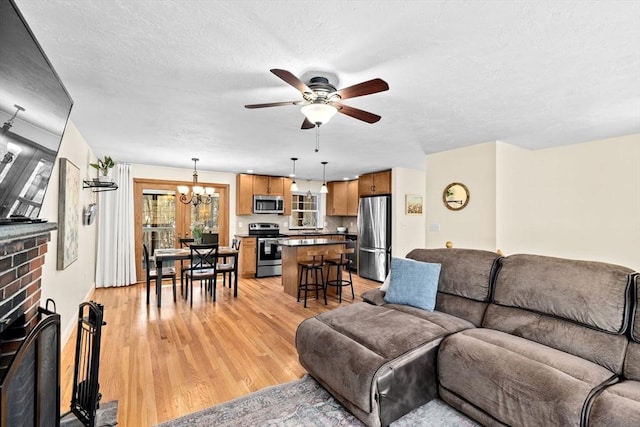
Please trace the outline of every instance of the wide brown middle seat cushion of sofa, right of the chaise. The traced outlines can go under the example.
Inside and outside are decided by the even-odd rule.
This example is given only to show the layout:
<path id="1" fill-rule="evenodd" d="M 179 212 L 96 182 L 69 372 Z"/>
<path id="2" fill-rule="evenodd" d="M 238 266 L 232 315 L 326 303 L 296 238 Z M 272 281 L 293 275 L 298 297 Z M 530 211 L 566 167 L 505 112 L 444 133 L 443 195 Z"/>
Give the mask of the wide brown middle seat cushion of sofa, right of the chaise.
<path id="1" fill-rule="evenodd" d="M 442 388 L 506 425 L 579 426 L 591 391 L 616 377 L 577 356 L 476 328 L 442 341 L 438 379 Z"/>

